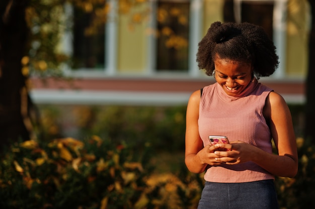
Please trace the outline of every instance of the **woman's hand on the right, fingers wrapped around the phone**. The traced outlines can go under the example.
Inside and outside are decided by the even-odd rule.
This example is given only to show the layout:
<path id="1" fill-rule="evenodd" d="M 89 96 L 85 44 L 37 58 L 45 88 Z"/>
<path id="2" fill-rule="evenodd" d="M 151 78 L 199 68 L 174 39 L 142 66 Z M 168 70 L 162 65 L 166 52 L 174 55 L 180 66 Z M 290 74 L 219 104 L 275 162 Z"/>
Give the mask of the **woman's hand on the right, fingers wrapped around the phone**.
<path id="1" fill-rule="evenodd" d="M 251 161 L 255 157 L 257 149 L 259 149 L 241 141 L 233 141 L 230 142 L 230 144 L 216 144 L 214 146 L 218 148 L 218 150 L 214 152 L 214 154 L 218 156 L 215 160 L 228 165 Z M 229 151 L 219 151 L 222 148 L 228 149 Z"/>

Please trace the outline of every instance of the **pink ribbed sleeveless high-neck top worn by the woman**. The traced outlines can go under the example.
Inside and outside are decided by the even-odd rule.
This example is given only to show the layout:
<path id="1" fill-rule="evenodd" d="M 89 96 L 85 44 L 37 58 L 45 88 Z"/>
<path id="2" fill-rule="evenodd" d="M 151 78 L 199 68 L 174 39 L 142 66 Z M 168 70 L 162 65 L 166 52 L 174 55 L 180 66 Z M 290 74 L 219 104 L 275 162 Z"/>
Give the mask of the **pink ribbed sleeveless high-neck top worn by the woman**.
<path id="1" fill-rule="evenodd" d="M 271 133 L 263 116 L 266 97 L 271 88 L 256 79 L 238 97 L 227 95 L 218 83 L 203 88 L 199 107 L 199 134 L 204 146 L 209 135 L 226 136 L 229 141 L 240 140 L 272 153 Z M 274 176 L 256 163 L 208 166 L 204 179 L 210 182 L 237 183 Z"/>

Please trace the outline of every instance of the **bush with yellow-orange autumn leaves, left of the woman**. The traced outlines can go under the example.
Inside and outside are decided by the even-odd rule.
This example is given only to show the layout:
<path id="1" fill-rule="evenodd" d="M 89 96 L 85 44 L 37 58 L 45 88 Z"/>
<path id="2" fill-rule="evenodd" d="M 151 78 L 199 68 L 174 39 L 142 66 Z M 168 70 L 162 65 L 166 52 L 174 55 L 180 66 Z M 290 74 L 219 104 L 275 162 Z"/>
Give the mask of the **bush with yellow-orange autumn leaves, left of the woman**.
<path id="1" fill-rule="evenodd" d="M 0 163 L 0 208 L 194 208 L 199 176 L 152 173 L 144 147 L 96 136 L 16 143 Z"/>

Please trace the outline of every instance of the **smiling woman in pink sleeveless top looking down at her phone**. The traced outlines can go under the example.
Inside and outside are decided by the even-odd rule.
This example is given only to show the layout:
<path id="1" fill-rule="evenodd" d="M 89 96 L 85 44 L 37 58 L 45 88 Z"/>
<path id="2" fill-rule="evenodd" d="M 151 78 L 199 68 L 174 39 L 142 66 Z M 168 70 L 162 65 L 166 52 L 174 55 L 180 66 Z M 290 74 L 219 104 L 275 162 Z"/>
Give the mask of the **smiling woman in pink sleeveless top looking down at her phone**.
<path id="1" fill-rule="evenodd" d="M 220 22 L 198 46 L 199 68 L 216 79 L 187 106 L 185 163 L 206 180 L 198 208 L 279 208 L 274 176 L 296 175 L 297 150 L 285 100 L 258 82 L 278 66 L 275 46 L 259 26 Z M 211 146 L 210 135 L 230 143 Z"/>

